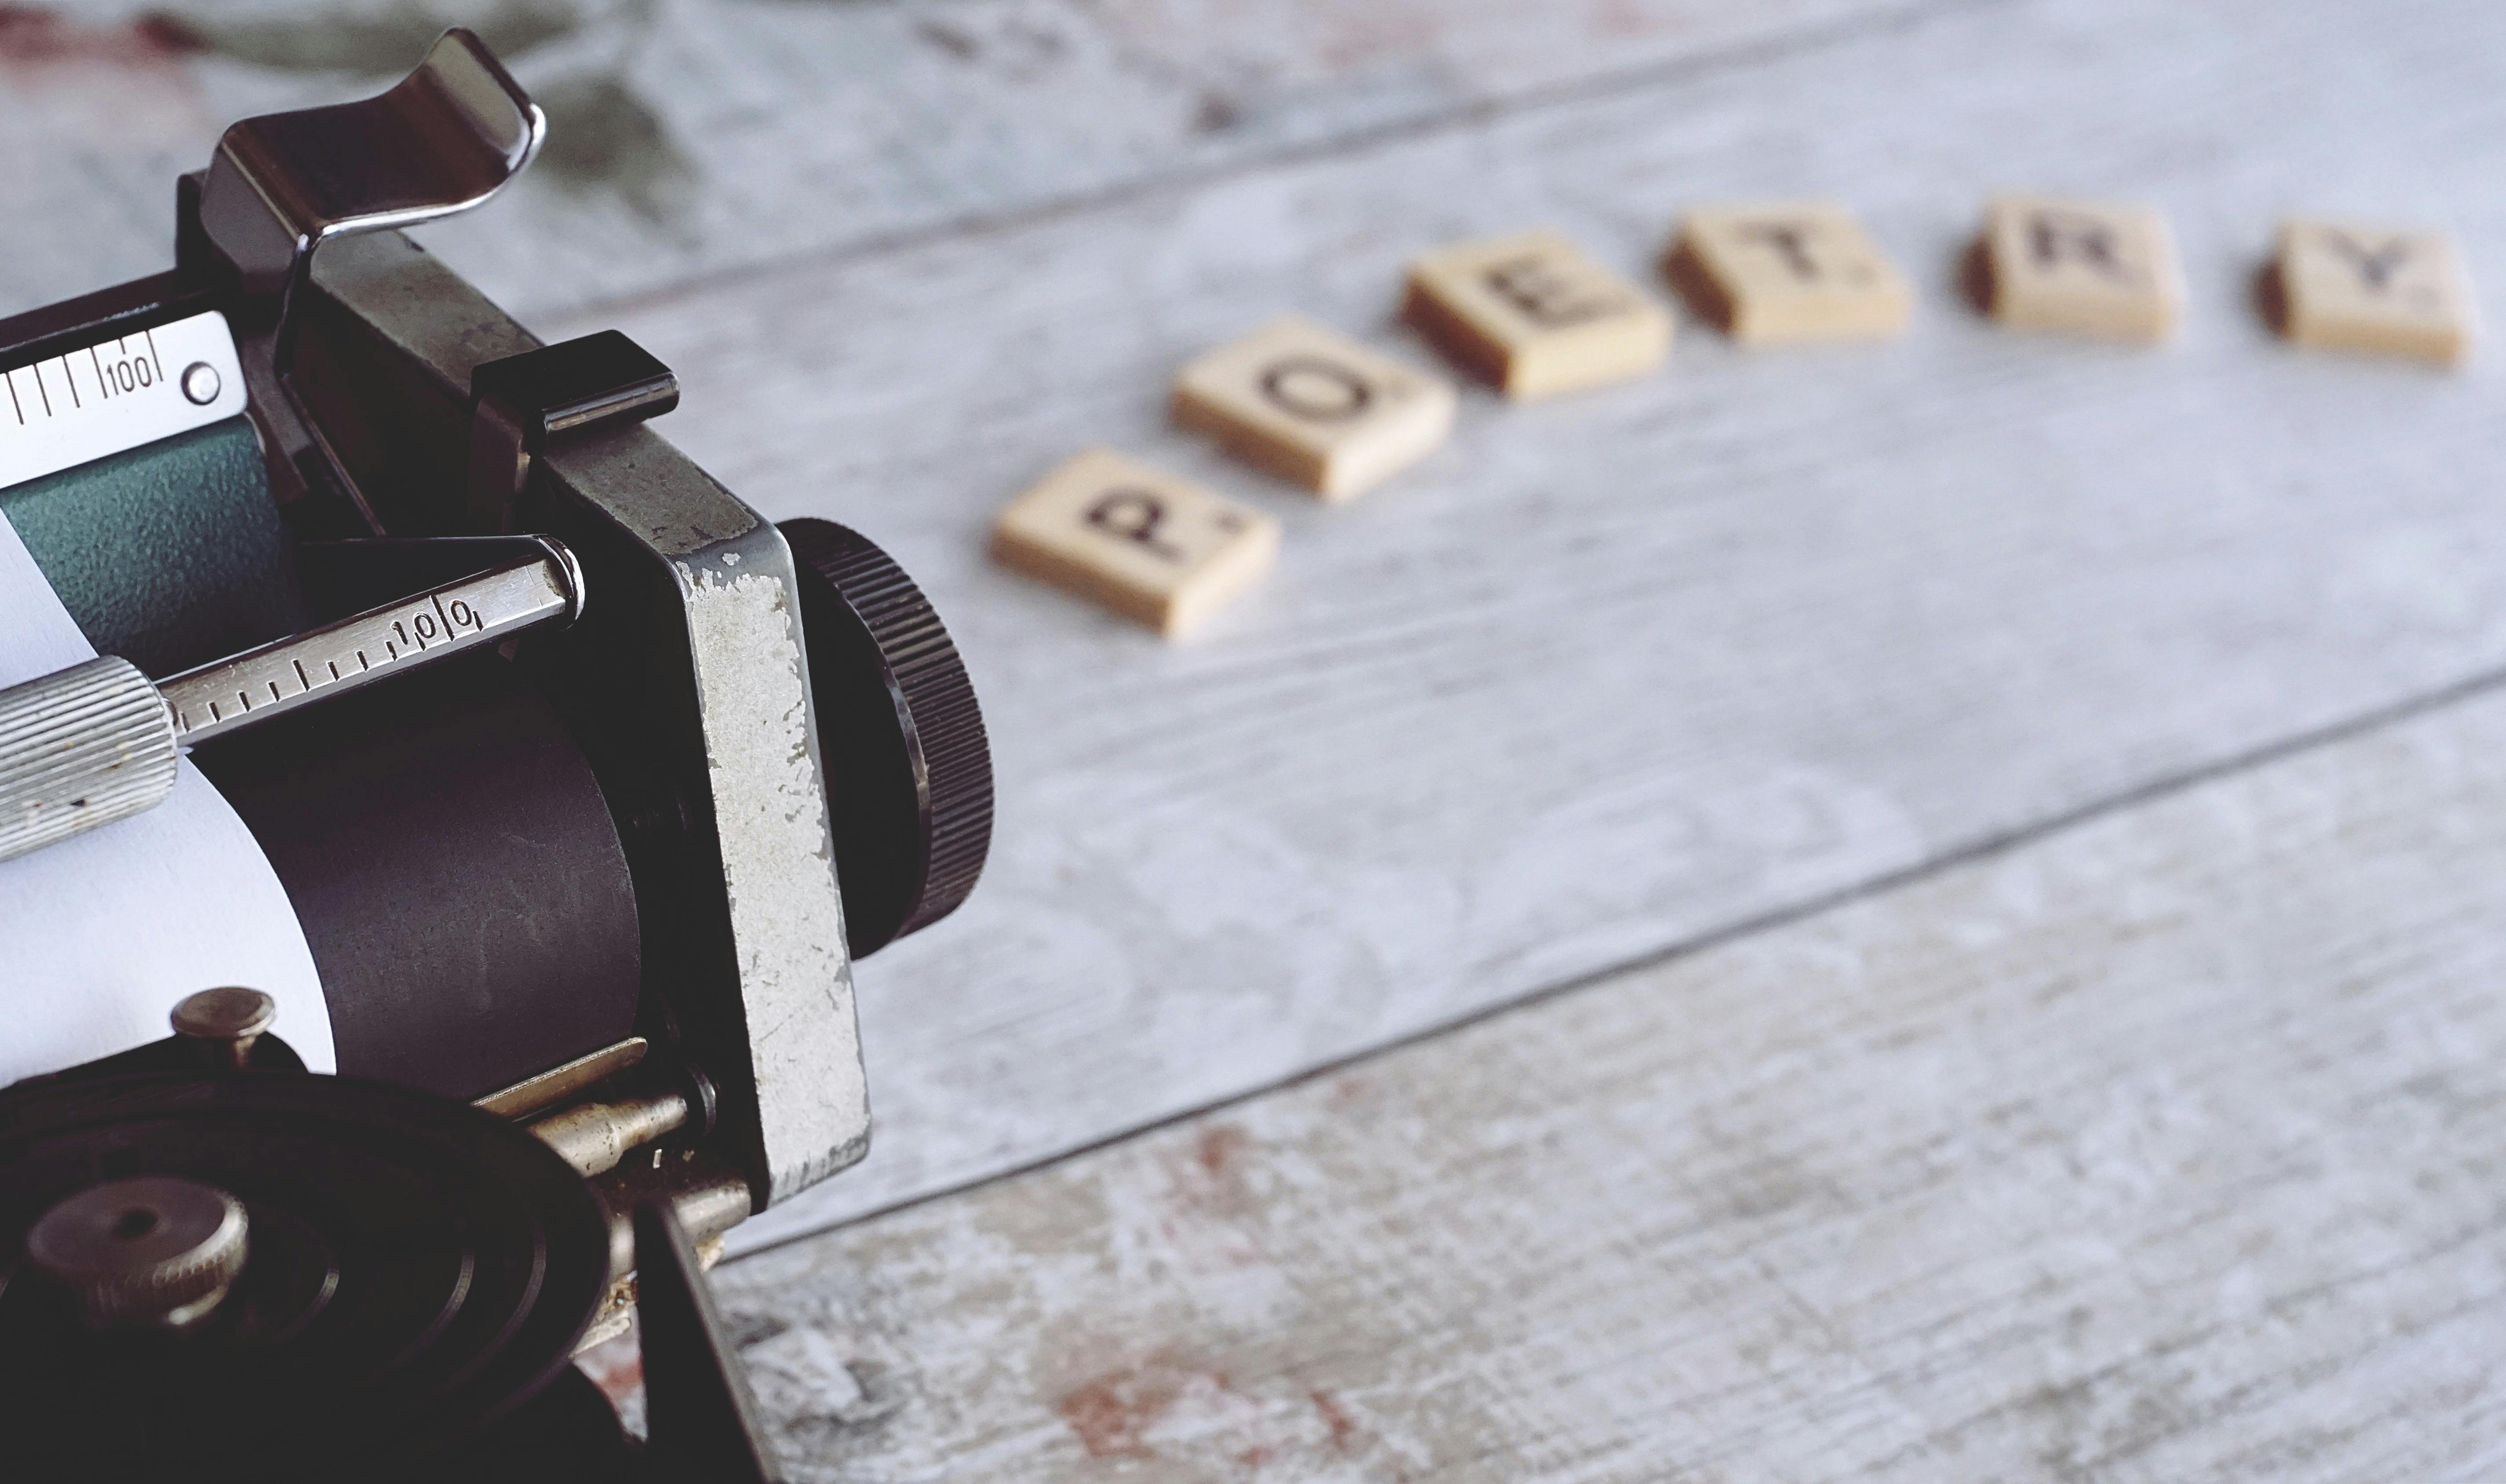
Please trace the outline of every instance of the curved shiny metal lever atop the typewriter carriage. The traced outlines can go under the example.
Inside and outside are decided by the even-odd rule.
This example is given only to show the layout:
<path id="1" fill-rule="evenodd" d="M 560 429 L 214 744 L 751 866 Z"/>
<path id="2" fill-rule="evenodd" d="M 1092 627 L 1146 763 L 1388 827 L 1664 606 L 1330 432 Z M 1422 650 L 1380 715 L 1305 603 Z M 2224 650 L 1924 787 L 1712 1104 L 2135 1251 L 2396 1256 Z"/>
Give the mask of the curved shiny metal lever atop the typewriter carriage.
<path id="1" fill-rule="evenodd" d="M 226 130 L 200 228 L 251 293 L 281 293 L 323 238 L 469 211 L 521 173 L 549 118 L 466 30 L 378 98 Z"/>

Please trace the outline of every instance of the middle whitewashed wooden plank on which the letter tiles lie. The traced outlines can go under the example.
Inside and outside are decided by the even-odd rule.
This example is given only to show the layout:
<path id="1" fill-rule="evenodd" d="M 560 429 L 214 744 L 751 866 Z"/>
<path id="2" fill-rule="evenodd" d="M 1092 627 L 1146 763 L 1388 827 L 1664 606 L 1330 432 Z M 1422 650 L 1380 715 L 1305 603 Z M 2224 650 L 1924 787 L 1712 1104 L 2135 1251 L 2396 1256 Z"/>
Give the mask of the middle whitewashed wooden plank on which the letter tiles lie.
<path id="1" fill-rule="evenodd" d="M 669 431 L 887 541 L 992 719 L 1000 840 L 870 960 L 870 1161 L 747 1241 L 985 1178 L 2506 664 L 2486 374 L 2293 351 L 2275 218 L 2451 223 L 2506 273 L 2506 18 L 2042 0 L 1749 75 L 652 301 Z M 2295 63 L 2348 58 L 2331 95 Z M 1920 85 L 1910 85 L 1920 80 Z M 2158 201 L 2178 343 L 2017 336 L 1952 263 L 1992 186 Z M 1396 353 L 1401 261 L 1559 223 L 1649 281 L 1682 203 L 1842 196 L 1902 341 L 1536 409 L 1318 509 L 1163 426 L 1278 311 Z M 559 328 L 594 328 L 599 318 Z M 1286 526 L 1165 647 L 982 556 L 1113 441 Z"/>

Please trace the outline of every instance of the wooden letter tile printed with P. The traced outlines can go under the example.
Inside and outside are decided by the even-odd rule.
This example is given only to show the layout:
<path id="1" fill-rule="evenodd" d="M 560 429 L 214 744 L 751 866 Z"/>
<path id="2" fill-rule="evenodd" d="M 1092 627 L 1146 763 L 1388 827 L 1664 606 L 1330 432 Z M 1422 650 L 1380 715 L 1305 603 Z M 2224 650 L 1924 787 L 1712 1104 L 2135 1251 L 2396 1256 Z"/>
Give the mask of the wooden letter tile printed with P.
<path id="1" fill-rule="evenodd" d="M 1160 634 L 1183 634 L 1271 572 L 1278 521 L 1113 449 L 1090 449 L 1000 511 L 992 556 Z"/>

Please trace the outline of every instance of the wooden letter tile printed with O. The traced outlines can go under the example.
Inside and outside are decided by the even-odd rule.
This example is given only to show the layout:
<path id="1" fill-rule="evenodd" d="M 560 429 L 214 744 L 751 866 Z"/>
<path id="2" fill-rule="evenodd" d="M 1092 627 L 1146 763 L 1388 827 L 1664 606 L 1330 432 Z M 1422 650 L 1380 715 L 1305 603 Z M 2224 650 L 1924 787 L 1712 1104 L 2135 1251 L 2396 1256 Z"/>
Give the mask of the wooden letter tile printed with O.
<path id="1" fill-rule="evenodd" d="M 1323 499 L 1348 499 L 1443 444 L 1453 389 L 1286 316 L 1185 366 L 1175 426 Z"/>

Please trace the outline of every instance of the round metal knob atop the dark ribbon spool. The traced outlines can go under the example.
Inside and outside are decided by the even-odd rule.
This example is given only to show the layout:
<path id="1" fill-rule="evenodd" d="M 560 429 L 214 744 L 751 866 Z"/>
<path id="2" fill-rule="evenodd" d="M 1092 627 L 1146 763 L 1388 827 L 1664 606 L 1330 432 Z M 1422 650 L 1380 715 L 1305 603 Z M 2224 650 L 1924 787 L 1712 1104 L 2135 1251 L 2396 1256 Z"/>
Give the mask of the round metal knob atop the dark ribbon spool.
<path id="1" fill-rule="evenodd" d="M 243 1203 L 173 1176 L 110 1181 L 45 1211 L 25 1256 L 93 1329 L 180 1329 L 243 1273 Z"/>

